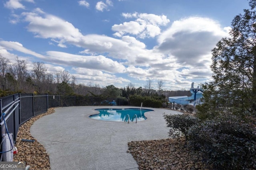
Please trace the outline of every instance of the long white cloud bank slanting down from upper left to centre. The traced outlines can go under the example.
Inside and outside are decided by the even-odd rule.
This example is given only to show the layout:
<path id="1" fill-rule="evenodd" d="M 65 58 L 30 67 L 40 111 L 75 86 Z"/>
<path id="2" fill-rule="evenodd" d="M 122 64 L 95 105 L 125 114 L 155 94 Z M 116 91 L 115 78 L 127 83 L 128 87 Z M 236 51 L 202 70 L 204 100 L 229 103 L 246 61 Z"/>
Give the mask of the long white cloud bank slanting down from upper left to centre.
<path id="1" fill-rule="evenodd" d="M 84 51 L 96 55 L 108 53 L 111 57 L 122 60 L 135 61 L 139 55 L 145 55 L 142 58 L 147 58 L 148 54 L 144 51 L 146 45 L 134 37 L 124 37 L 123 39 L 114 39 L 105 35 L 82 35 L 79 29 L 71 23 L 62 20 L 56 16 L 38 13 L 22 13 L 24 21 L 29 24 L 26 27 L 28 31 L 33 32 L 35 37 L 51 39 L 52 43 L 56 43 L 59 47 L 68 47 L 75 45 L 88 49 Z M 136 50 L 135 50 L 136 49 Z M 146 61 L 141 60 L 146 63 Z"/>

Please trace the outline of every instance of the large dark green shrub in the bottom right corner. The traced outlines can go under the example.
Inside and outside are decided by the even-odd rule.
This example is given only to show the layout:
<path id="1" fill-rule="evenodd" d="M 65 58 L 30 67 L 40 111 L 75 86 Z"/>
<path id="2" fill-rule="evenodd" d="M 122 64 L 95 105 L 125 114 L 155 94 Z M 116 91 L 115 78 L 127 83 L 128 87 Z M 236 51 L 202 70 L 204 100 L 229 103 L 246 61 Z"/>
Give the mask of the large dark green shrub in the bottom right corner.
<path id="1" fill-rule="evenodd" d="M 256 169 L 256 129 L 235 115 L 226 113 L 192 126 L 188 140 L 216 169 Z"/>

